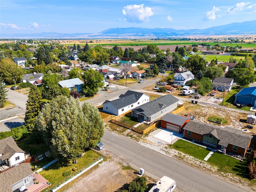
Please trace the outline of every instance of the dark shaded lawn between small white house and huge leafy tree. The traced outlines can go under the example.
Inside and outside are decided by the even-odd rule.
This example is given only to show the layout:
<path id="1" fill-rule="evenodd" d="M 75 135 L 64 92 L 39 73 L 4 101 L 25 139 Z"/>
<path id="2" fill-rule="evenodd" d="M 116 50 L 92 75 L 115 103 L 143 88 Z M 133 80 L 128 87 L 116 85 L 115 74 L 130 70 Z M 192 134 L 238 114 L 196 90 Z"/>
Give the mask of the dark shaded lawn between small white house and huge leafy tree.
<path id="1" fill-rule="evenodd" d="M 17 145 L 22 150 L 27 150 L 28 152 L 30 152 L 30 156 L 38 155 L 49 150 L 48 146 L 46 146 L 43 143 L 41 144 L 30 143 L 28 138 L 17 141 Z"/>

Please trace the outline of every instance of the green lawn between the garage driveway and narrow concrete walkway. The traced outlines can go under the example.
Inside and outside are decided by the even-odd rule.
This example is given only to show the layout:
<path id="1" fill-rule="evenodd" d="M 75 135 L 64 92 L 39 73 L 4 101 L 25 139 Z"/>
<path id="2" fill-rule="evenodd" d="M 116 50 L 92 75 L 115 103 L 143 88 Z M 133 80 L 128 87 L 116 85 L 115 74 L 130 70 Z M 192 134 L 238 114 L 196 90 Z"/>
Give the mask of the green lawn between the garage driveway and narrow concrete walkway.
<path id="1" fill-rule="evenodd" d="M 179 139 L 170 147 L 200 160 L 204 160 L 210 153 L 210 150 L 182 139 Z"/>

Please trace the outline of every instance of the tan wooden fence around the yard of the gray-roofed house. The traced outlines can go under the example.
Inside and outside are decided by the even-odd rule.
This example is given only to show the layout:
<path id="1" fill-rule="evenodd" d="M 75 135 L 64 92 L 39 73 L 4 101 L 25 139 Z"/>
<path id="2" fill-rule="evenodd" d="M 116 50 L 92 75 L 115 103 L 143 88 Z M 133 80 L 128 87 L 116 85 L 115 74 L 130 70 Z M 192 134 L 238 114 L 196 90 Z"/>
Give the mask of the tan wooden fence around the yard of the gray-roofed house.
<path id="1" fill-rule="evenodd" d="M 176 109 L 175 111 L 172 112 L 172 114 L 176 114 L 180 111 L 182 111 L 184 109 L 184 106 L 183 105 L 180 105 L 178 109 Z M 154 129 L 156 126 L 158 126 L 160 123 L 161 123 L 161 120 L 158 120 L 156 122 L 154 122 L 151 126 L 149 126 L 148 128 L 142 130 L 138 127 L 134 127 L 132 125 L 129 125 L 129 124 L 126 124 L 124 122 L 121 122 L 119 121 L 118 119 L 120 119 L 121 117 L 125 116 L 126 114 L 128 115 L 131 115 L 132 114 L 132 110 L 128 111 L 128 112 L 125 112 L 123 114 L 120 114 L 118 116 L 115 116 L 111 119 L 111 122 L 116 124 L 116 125 L 119 125 L 119 126 L 122 126 L 122 127 L 125 127 L 125 128 L 128 128 L 130 130 L 133 130 L 139 134 L 146 134 L 147 132 L 149 132 L 150 130 Z"/>

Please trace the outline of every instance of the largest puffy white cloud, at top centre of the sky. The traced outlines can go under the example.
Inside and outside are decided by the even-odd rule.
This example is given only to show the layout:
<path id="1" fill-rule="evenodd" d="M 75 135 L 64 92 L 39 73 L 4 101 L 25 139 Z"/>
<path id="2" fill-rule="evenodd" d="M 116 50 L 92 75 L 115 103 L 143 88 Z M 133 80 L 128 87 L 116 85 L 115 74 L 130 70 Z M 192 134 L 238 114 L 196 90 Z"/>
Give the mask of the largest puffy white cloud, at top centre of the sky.
<path id="1" fill-rule="evenodd" d="M 150 7 L 143 7 L 144 4 L 141 5 L 127 5 L 123 8 L 123 14 L 126 16 L 124 21 L 128 21 L 131 23 L 141 23 L 150 21 L 149 17 L 153 16 L 154 13 L 151 11 Z"/>

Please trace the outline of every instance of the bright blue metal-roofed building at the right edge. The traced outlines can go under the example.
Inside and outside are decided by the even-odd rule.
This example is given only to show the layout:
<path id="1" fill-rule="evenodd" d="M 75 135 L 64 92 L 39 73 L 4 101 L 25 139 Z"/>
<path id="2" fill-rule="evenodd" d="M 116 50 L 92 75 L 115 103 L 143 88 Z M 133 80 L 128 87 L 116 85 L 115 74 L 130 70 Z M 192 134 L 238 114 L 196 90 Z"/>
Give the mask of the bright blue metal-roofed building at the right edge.
<path id="1" fill-rule="evenodd" d="M 256 87 L 243 88 L 235 97 L 235 103 L 256 106 Z"/>

